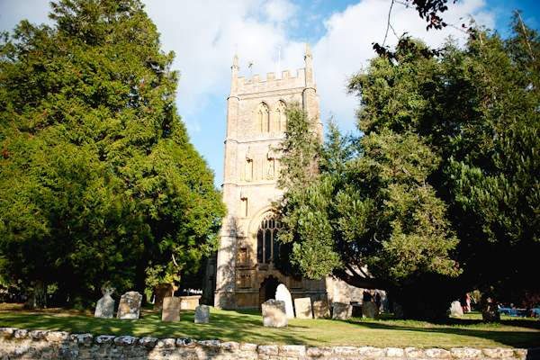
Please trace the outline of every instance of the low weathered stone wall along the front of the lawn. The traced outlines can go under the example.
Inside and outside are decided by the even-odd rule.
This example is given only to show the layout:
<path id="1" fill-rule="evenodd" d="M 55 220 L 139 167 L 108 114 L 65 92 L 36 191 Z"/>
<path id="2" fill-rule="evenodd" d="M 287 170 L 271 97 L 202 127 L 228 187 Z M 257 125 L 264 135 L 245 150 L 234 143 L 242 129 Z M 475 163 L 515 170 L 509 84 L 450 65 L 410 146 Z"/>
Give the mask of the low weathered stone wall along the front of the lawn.
<path id="1" fill-rule="evenodd" d="M 0 359 L 247 359 L 247 360 L 533 360 L 540 348 L 512 349 L 472 347 L 418 349 L 414 347 L 303 347 L 257 345 L 192 338 L 134 338 L 64 331 L 0 328 Z"/>

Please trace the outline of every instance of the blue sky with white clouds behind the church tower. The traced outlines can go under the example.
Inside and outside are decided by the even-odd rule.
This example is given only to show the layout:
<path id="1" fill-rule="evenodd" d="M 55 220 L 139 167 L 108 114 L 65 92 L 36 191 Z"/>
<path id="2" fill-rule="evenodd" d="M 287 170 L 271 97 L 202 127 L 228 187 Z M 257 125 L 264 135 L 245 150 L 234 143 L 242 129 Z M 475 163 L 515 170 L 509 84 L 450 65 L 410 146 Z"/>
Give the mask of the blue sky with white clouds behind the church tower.
<path id="1" fill-rule="evenodd" d="M 162 49 L 174 50 L 180 72 L 176 103 L 195 148 L 214 171 L 216 186 L 223 180 L 230 66 L 238 53 L 239 76 L 303 67 L 306 40 L 311 43 L 313 70 L 320 93 L 323 122 L 333 113 L 342 130 L 355 129 L 358 100 L 345 93 L 347 76 L 366 67 L 374 57 L 373 42 L 382 42 L 391 0 L 144 0 L 149 17 L 161 33 Z M 458 0 L 444 13 L 446 23 L 459 26 L 473 16 L 477 23 L 508 30 L 513 9 L 540 28 L 538 0 Z M 23 19 L 49 23 L 49 0 L 0 0 L 0 30 L 11 31 Z M 461 43 L 464 33 L 453 27 L 426 31 L 412 8 L 394 4 L 392 27 L 438 47 L 449 35 Z M 391 32 L 387 43 L 397 38 Z M 238 47 L 235 45 L 238 44 Z M 281 47 L 281 58 L 279 49 Z"/>

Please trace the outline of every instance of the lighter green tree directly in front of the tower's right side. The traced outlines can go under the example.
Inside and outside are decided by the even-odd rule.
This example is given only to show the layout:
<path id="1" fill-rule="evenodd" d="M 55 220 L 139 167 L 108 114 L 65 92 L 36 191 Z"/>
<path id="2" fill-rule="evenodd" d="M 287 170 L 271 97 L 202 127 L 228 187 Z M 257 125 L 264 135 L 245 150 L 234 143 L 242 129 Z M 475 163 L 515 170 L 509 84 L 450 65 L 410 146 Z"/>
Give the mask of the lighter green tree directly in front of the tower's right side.
<path id="1" fill-rule="evenodd" d="M 324 148 L 310 149 L 309 124 L 305 116 L 290 117 L 287 146 L 281 148 L 282 162 L 290 165 L 282 172 L 287 187 L 278 206 L 285 225 L 280 269 L 312 279 L 335 275 L 357 287 L 394 293 L 425 275 L 458 275 L 449 257 L 457 239 L 446 205 L 427 183 L 437 156 L 415 134 L 392 130 L 351 143 L 333 122 Z M 311 158 L 319 154 L 317 175 L 309 182 L 287 181 L 296 174 L 293 166 L 302 169 L 296 157 L 306 152 Z"/>

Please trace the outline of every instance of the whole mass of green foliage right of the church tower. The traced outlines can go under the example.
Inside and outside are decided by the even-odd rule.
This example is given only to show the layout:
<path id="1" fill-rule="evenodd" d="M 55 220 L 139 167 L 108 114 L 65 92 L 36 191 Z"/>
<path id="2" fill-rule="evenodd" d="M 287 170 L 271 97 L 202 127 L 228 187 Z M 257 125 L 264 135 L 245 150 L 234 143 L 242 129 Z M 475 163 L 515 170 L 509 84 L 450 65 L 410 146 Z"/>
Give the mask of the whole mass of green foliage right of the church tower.
<path id="1" fill-rule="evenodd" d="M 387 289 L 413 317 L 473 289 L 536 299 L 540 38 L 519 13 L 512 30 L 501 40 L 472 23 L 464 49 L 437 51 L 403 38 L 349 79 L 362 135 L 330 124 L 319 175 L 288 182 L 285 270 Z M 421 293 L 434 294 L 423 314 Z"/>

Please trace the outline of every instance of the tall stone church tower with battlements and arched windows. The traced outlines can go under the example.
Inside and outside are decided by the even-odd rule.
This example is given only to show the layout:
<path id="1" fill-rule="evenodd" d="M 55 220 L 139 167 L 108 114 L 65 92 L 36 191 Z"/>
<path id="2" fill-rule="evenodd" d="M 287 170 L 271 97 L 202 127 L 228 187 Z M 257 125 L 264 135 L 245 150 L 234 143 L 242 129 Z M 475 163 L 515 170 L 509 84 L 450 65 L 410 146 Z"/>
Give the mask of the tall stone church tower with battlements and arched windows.
<path id="1" fill-rule="evenodd" d="M 279 160 L 273 148 L 284 139 L 285 110 L 300 103 L 322 136 L 319 94 L 313 84 L 310 44 L 305 68 L 281 78 L 268 73 L 266 81 L 255 75 L 238 77 L 238 57 L 232 65 L 227 108 L 227 139 L 223 201 L 227 216 L 220 229 L 214 306 L 218 309 L 257 310 L 285 284 L 293 298 L 327 300 L 326 279 L 294 281 L 274 267 L 275 236 L 281 224 L 271 206 L 282 191 L 276 188 Z"/>

